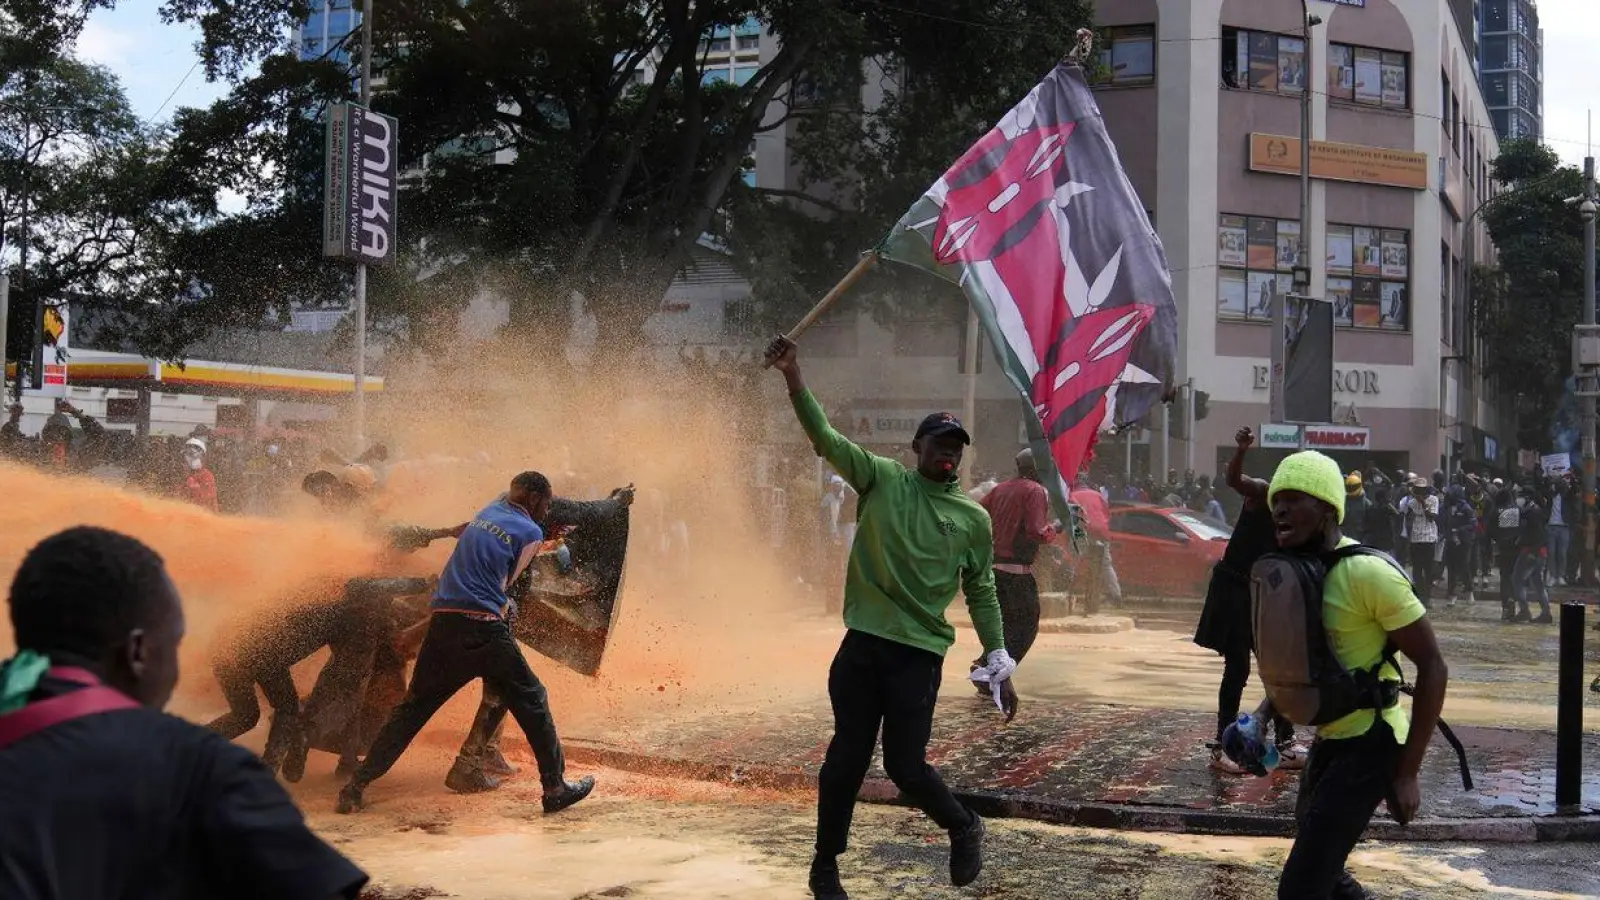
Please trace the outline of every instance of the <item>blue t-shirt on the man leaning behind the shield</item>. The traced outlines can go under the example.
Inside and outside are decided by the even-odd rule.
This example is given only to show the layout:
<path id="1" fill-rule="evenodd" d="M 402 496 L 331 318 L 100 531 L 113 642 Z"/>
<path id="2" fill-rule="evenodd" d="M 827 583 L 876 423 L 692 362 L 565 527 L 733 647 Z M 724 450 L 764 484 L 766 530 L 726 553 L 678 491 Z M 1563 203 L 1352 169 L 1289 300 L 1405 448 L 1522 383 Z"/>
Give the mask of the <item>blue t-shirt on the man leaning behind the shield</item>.
<path id="1" fill-rule="evenodd" d="M 533 559 L 544 530 L 506 500 L 485 506 L 456 540 L 434 591 L 434 609 L 504 615 L 506 588 Z"/>

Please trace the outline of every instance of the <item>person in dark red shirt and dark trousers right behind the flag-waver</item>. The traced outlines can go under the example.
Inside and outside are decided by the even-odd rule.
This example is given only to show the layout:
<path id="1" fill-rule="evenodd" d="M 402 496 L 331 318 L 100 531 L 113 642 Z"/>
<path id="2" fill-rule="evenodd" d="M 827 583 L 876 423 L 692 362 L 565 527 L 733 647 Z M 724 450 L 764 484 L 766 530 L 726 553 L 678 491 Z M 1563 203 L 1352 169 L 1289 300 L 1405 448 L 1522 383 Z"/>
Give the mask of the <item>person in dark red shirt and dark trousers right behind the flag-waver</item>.
<path id="1" fill-rule="evenodd" d="M 1034 560 L 1038 548 L 1056 536 L 1050 522 L 1050 495 L 1038 484 L 1038 466 L 1034 452 L 1024 448 L 1016 455 L 1016 477 L 995 485 L 984 500 L 994 527 L 995 596 L 1000 601 L 1000 620 L 1005 625 L 1005 649 L 1018 663 L 1027 657 L 1038 637 L 1038 581 L 1034 580 Z M 982 668 L 978 658 L 973 668 Z M 978 685 L 987 695 L 987 685 Z"/>

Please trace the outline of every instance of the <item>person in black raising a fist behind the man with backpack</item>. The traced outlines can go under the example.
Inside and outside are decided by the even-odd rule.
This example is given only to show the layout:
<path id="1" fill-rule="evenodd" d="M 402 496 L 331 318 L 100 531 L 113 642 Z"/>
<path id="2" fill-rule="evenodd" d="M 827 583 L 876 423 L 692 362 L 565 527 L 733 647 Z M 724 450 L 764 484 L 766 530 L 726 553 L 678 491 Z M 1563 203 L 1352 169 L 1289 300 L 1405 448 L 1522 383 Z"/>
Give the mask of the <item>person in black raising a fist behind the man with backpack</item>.
<path id="1" fill-rule="evenodd" d="M 1245 474 L 1245 453 L 1254 442 L 1256 434 L 1248 428 L 1234 434 L 1227 485 L 1243 498 L 1245 506 L 1222 551 L 1222 560 L 1211 567 L 1211 583 L 1194 637 L 1195 644 L 1222 657 L 1222 682 L 1216 692 L 1218 743 L 1211 749 L 1211 769 L 1224 775 L 1245 773 L 1245 769 L 1222 753 L 1221 741 L 1222 730 L 1238 717 L 1238 703 L 1245 695 L 1245 682 L 1250 681 L 1250 653 L 1254 650 L 1250 623 L 1250 567 L 1277 546 L 1272 514 L 1267 509 L 1267 482 Z M 1272 732 L 1278 745 L 1280 765 L 1285 769 L 1304 765 L 1306 754 L 1294 745 L 1294 725 L 1278 716 L 1272 722 Z"/>

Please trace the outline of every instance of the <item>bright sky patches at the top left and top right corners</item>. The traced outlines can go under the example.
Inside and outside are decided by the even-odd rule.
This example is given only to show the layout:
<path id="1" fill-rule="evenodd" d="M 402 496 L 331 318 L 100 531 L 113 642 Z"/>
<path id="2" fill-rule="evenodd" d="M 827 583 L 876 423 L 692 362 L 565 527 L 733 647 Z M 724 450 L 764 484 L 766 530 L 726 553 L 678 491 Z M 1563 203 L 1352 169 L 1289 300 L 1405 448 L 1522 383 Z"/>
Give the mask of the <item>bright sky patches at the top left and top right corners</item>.
<path id="1" fill-rule="evenodd" d="M 115 10 L 96 11 L 78 40 L 80 56 L 110 67 L 144 119 L 166 119 L 176 106 L 205 106 L 224 93 L 206 83 L 195 66 L 198 30 L 162 24 L 158 6 L 155 0 L 123 0 Z M 1589 109 L 1600 98 L 1600 91 L 1587 90 L 1597 83 L 1600 0 L 1539 0 L 1538 6 L 1544 27 L 1546 143 L 1563 160 L 1581 165 Z"/>

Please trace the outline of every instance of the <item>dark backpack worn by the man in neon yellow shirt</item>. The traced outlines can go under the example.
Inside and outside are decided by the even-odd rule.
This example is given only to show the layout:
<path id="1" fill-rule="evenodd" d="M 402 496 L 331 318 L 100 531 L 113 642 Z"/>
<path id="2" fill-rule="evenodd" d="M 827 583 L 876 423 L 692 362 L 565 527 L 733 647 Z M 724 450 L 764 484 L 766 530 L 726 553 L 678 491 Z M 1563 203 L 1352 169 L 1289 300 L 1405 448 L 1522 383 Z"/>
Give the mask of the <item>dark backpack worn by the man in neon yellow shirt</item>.
<path id="1" fill-rule="evenodd" d="M 1333 652 L 1322 620 L 1322 588 L 1334 565 L 1354 556 L 1374 556 L 1405 570 L 1387 552 L 1363 544 L 1338 548 L 1322 556 L 1269 552 L 1250 569 L 1251 628 L 1256 639 L 1256 671 L 1278 714 L 1296 725 L 1326 725 L 1358 709 L 1387 709 L 1411 693 L 1394 644 L 1371 669 L 1347 669 Z M 1410 581 L 1410 580 L 1408 580 Z M 1402 674 L 1400 682 L 1379 677 L 1384 665 Z M 1461 783 L 1472 790 L 1466 749 L 1443 721 L 1440 733 L 1461 762 Z"/>

